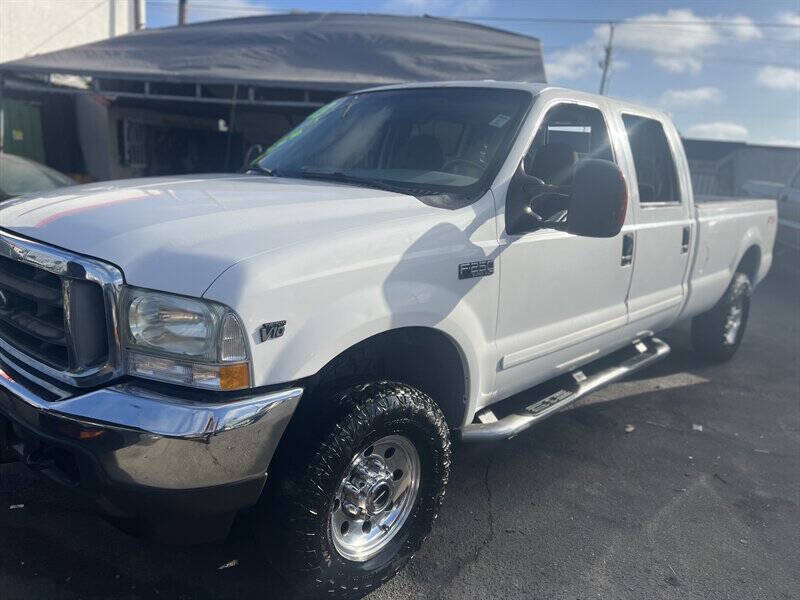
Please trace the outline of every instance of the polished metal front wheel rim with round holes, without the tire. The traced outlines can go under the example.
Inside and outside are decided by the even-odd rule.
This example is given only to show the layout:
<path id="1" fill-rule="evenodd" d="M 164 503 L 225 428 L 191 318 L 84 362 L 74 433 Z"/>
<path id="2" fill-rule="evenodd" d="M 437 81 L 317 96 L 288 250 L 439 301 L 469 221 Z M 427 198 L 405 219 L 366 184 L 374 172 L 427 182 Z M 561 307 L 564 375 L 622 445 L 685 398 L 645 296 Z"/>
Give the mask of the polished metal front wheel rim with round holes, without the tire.
<path id="1" fill-rule="evenodd" d="M 408 438 L 388 435 L 362 448 L 331 504 L 330 531 L 337 552 L 355 562 L 379 554 L 414 510 L 419 484 L 419 453 Z"/>

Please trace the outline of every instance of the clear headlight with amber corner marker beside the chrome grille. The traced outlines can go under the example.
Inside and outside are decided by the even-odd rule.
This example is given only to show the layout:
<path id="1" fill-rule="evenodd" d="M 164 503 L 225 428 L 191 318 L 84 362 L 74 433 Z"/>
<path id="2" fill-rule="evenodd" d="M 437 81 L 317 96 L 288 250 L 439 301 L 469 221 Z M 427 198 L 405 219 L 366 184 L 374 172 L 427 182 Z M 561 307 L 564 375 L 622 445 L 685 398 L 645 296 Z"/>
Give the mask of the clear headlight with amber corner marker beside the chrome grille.
<path id="1" fill-rule="evenodd" d="M 136 288 L 123 298 L 129 374 L 212 390 L 250 386 L 244 329 L 230 309 Z"/>

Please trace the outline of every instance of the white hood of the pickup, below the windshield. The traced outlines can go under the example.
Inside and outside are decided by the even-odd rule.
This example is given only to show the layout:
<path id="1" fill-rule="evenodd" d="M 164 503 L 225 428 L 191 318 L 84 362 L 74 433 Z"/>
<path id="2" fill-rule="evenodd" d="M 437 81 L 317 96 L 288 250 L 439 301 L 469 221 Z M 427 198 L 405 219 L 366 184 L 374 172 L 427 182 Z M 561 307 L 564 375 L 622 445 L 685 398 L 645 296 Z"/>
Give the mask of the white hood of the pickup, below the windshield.
<path id="1" fill-rule="evenodd" d="M 114 263 L 131 285 L 200 296 L 249 257 L 435 210 L 364 187 L 210 175 L 24 196 L 0 205 L 0 228 Z"/>

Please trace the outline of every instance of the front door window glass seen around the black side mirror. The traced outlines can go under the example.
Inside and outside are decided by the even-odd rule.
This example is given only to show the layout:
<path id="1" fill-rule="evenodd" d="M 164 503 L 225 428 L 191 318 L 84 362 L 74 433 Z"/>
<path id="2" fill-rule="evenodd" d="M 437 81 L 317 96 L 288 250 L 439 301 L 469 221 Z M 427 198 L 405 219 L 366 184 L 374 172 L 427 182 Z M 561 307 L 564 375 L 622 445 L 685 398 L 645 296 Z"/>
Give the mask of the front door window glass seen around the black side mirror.
<path id="1" fill-rule="evenodd" d="M 545 115 L 525 155 L 527 175 L 551 185 L 571 185 L 575 165 L 584 158 L 614 161 L 603 113 L 577 104 L 559 104 Z M 555 194 L 537 198 L 533 211 L 544 220 L 566 219 L 564 198 Z"/>

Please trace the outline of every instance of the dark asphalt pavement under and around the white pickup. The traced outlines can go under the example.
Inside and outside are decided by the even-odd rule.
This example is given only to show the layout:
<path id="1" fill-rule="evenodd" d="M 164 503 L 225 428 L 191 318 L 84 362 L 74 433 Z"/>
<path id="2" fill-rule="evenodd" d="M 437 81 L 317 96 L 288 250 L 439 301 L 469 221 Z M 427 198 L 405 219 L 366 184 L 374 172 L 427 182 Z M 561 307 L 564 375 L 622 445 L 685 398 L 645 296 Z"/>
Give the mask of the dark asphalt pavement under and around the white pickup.
<path id="1" fill-rule="evenodd" d="M 800 597 L 800 259 L 783 253 L 725 365 L 668 359 L 503 443 L 458 446 L 428 544 L 370 600 Z M 0 466 L 0 598 L 283 598 L 246 521 L 130 537 Z"/>

